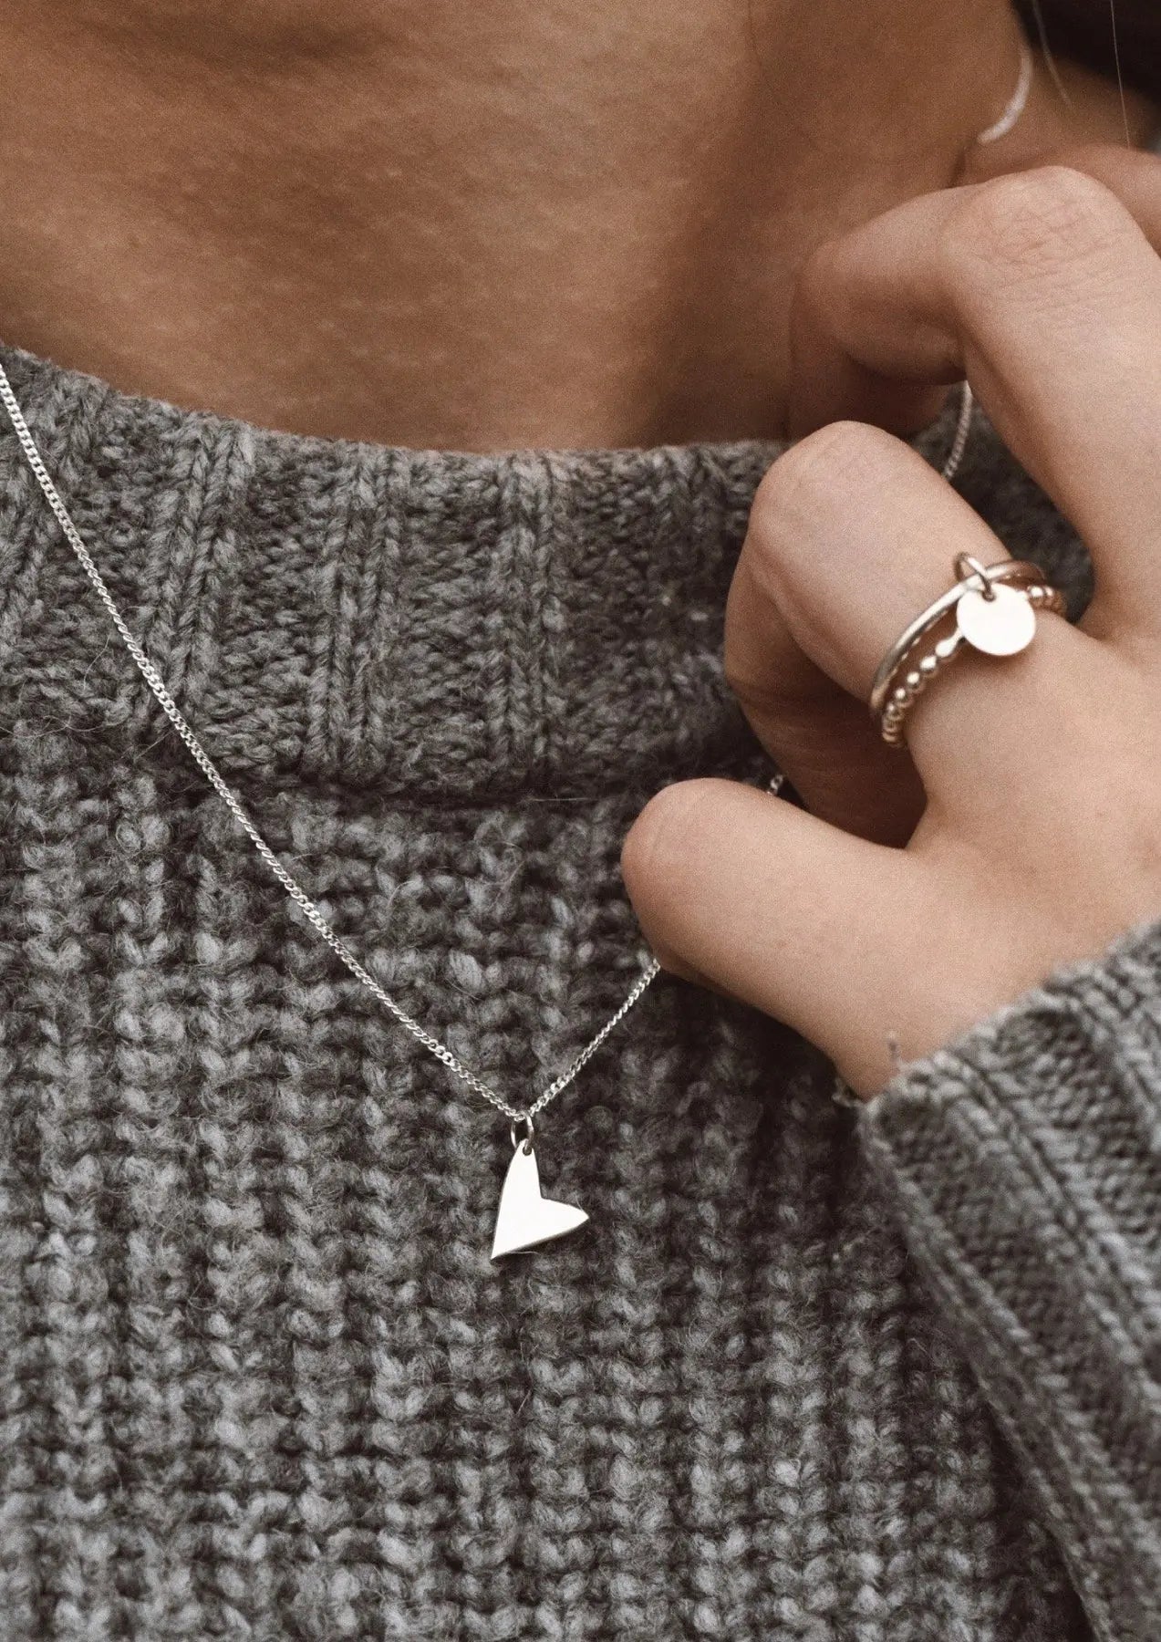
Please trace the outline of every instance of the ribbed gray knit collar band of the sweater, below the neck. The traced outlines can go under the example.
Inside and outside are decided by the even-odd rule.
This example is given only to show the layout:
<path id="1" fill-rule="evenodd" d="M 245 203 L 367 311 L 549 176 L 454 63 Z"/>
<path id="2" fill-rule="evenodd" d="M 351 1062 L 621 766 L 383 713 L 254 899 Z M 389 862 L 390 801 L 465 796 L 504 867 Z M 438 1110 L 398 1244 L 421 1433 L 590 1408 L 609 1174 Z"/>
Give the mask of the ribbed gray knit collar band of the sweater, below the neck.
<path id="1" fill-rule="evenodd" d="M 568 796 L 704 768 L 744 737 L 721 621 L 777 445 L 406 450 L 179 409 L 13 346 L 0 360 L 130 627 L 223 767 Z M 0 714 L 25 731 L 158 739 L 7 417 L 0 667 Z"/>

